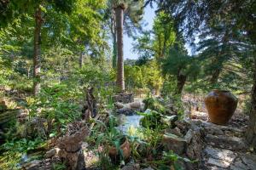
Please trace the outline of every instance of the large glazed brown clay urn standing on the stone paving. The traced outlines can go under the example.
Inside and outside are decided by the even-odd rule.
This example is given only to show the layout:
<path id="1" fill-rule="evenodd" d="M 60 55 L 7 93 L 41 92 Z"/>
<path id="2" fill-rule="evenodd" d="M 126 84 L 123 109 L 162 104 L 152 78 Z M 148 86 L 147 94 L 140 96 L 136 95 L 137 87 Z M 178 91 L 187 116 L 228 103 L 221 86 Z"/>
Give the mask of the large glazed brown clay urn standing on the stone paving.
<path id="1" fill-rule="evenodd" d="M 205 99 L 209 121 L 225 125 L 236 111 L 238 99 L 227 90 L 212 90 Z"/>

